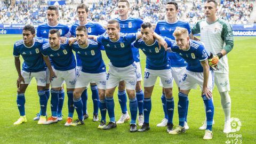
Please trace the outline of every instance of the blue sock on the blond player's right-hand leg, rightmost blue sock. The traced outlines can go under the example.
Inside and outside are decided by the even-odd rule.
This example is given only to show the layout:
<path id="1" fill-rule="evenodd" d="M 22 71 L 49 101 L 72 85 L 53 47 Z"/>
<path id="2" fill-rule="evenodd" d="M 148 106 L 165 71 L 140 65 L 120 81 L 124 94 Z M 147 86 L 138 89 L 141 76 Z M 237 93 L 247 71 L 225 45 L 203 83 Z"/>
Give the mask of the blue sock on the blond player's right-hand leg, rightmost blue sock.
<path id="1" fill-rule="evenodd" d="M 213 121 L 213 115 L 214 115 L 214 106 L 212 99 L 207 99 L 205 94 L 202 95 L 204 104 L 205 104 L 205 112 L 206 112 L 206 119 L 207 119 L 207 126 L 206 130 L 212 131 L 212 121 Z"/>

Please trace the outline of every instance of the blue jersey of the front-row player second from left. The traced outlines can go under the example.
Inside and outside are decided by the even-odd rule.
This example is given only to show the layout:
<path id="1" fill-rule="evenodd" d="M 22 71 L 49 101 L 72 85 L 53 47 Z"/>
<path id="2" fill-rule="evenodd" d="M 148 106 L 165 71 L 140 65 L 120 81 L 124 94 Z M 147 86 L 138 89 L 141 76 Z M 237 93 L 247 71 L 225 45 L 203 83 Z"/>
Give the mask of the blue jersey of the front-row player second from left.
<path id="1" fill-rule="evenodd" d="M 53 50 L 49 43 L 43 45 L 43 55 L 52 59 L 53 67 L 57 70 L 70 70 L 76 67 L 76 60 L 67 42 L 60 44 L 58 50 Z"/>

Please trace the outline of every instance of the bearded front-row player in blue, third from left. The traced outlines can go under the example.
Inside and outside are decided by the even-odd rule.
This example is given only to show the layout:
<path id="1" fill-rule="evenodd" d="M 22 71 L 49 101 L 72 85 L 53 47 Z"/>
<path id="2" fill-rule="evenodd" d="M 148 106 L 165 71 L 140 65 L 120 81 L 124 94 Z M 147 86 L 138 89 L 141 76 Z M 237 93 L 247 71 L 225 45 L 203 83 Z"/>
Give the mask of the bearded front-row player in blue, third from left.
<path id="1" fill-rule="evenodd" d="M 76 40 L 72 49 L 79 55 L 82 62 L 82 69 L 77 77 L 74 101 L 81 101 L 81 94 L 89 86 L 91 81 L 97 83 L 99 87 L 100 97 L 100 112 L 101 122 L 98 126 L 99 129 L 103 129 L 106 126 L 106 102 L 105 102 L 105 90 L 106 90 L 106 66 L 102 60 L 100 51 L 100 45 L 92 39 L 87 39 L 87 29 L 85 26 L 78 26 L 76 28 Z M 82 101 L 80 102 L 82 103 Z M 81 105 L 81 104 L 80 104 Z M 77 109 L 79 111 L 78 119 L 83 119 L 83 109 Z M 72 125 L 79 125 L 79 121 Z"/>

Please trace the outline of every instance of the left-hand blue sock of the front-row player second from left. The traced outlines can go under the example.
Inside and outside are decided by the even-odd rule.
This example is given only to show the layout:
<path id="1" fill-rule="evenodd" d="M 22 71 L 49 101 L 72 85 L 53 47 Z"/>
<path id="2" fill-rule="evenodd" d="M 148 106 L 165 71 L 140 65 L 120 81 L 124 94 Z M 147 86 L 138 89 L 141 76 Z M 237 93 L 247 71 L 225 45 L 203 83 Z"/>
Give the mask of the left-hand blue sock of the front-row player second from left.
<path id="1" fill-rule="evenodd" d="M 52 116 L 57 117 L 57 110 L 58 110 L 58 103 L 59 103 L 59 91 L 51 90 L 51 111 Z"/>

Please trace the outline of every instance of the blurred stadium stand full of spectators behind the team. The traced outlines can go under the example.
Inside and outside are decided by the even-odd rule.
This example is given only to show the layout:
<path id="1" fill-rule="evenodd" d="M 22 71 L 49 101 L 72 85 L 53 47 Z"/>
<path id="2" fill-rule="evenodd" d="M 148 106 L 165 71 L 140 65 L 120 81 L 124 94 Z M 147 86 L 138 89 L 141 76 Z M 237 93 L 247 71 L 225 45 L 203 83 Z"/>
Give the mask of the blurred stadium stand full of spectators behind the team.
<path id="1" fill-rule="evenodd" d="M 0 23 L 10 24 L 38 24 L 46 22 L 45 11 L 49 1 L 21 1 L 4 0 L 0 4 Z M 66 5 L 58 5 L 60 10 L 60 22 L 70 25 L 77 21 L 76 6 L 85 1 L 67 0 Z M 144 21 L 156 23 L 165 18 L 165 9 L 167 1 L 131 1 L 131 15 L 139 17 Z M 250 15 L 255 15 L 253 5 L 255 1 L 227 1 L 221 0 L 218 5 L 218 13 L 222 19 L 228 20 L 230 24 L 246 24 L 255 21 Z M 204 0 L 197 1 L 178 1 L 180 12 L 178 16 L 181 19 L 195 24 L 198 20 L 204 18 L 203 3 Z M 118 17 L 117 0 L 98 1 L 92 0 L 87 3 L 89 6 L 89 18 L 93 21 L 106 23 L 107 20 Z"/>

